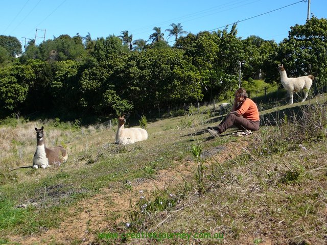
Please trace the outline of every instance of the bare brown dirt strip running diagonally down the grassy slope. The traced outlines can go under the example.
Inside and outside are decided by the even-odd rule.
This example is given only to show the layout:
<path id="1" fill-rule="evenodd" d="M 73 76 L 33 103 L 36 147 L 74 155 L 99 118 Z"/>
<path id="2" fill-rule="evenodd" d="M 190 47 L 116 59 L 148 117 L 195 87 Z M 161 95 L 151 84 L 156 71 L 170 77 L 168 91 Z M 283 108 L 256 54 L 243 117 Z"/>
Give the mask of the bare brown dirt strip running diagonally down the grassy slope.
<path id="1" fill-rule="evenodd" d="M 242 142 L 244 143 L 244 142 Z M 226 146 L 217 146 L 214 149 L 203 152 L 203 158 L 209 164 L 209 159 L 214 157 L 215 161 L 225 161 L 231 159 L 241 152 L 240 142 L 231 142 Z M 78 244 L 90 244 L 96 239 L 95 235 L 102 230 L 118 227 L 122 222 L 129 219 L 128 211 L 131 202 L 135 203 L 135 193 L 150 194 L 155 189 L 165 189 L 169 186 L 176 186 L 194 176 L 196 163 L 192 160 L 177 163 L 174 169 L 158 170 L 155 178 L 136 179 L 128 184 L 131 190 L 108 187 L 103 188 L 100 194 L 91 199 L 85 199 L 79 202 L 69 213 L 71 217 L 64 220 L 58 228 L 49 229 L 42 234 L 33 234 L 28 237 L 14 237 L 12 242 L 24 244 L 71 244 L 73 241 Z M 126 183 L 123 183 L 126 184 Z M 121 185 L 123 185 L 121 184 Z M 67 194 L 62 191 L 62 186 L 54 186 L 50 189 L 49 195 L 60 197 Z M 267 243 L 268 244 L 268 243 Z"/>

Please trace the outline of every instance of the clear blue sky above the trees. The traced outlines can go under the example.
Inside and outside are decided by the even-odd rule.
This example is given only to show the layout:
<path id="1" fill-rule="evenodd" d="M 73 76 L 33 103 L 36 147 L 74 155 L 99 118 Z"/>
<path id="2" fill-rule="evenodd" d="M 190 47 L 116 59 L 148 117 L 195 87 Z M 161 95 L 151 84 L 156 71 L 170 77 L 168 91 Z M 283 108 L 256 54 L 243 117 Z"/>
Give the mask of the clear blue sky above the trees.
<path id="1" fill-rule="evenodd" d="M 184 31 L 197 34 L 240 21 L 238 37 L 256 35 L 279 43 L 288 37 L 291 26 L 305 24 L 307 13 L 308 2 L 300 0 L 3 0 L 0 35 L 17 37 L 24 44 L 25 38 L 37 34 L 39 44 L 44 32 L 45 40 L 77 33 L 97 39 L 127 30 L 133 40 L 148 40 L 153 28 L 160 27 L 167 40 L 165 30 L 171 23 L 181 23 Z M 311 0 L 310 13 L 327 18 L 326 0 Z M 168 41 L 172 45 L 174 37 Z"/>

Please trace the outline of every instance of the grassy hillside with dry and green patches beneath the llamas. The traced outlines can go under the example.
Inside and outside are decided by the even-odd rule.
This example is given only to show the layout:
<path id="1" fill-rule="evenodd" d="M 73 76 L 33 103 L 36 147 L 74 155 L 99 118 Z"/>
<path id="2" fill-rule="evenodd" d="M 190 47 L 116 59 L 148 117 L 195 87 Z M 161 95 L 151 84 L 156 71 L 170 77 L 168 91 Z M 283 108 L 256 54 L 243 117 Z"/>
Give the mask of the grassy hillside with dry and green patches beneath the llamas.
<path id="1" fill-rule="evenodd" d="M 260 131 L 215 139 L 205 129 L 219 112 L 206 107 L 150 122 L 149 139 L 126 146 L 116 126 L 7 120 L 0 244 L 323 244 L 325 101 L 266 107 Z M 68 161 L 12 170 L 32 165 L 41 126 Z"/>

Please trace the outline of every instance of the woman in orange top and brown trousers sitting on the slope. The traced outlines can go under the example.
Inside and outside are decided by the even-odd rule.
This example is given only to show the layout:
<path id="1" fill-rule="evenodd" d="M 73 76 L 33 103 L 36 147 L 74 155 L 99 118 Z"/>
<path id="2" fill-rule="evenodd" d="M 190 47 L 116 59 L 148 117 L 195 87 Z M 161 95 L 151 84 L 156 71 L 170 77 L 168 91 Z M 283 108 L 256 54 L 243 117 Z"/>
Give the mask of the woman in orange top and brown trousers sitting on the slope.
<path id="1" fill-rule="evenodd" d="M 231 112 L 220 122 L 218 127 L 208 127 L 208 132 L 214 137 L 220 136 L 231 127 L 241 130 L 259 130 L 260 118 L 259 110 L 255 103 L 247 97 L 246 90 L 239 88 L 236 90 L 234 104 Z"/>

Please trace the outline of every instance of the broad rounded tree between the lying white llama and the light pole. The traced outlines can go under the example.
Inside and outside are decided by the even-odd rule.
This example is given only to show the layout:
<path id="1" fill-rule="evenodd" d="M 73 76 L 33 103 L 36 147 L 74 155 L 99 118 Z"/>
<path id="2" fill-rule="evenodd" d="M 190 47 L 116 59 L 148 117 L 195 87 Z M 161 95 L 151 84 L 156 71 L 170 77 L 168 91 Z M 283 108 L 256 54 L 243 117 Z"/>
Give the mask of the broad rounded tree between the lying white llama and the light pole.
<path id="1" fill-rule="evenodd" d="M 127 67 L 125 83 L 118 91 L 122 97 L 130 97 L 136 109 L 202 99 L 199 72 L 183 51 L 166 49 L 135 53 Z"/>

